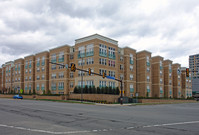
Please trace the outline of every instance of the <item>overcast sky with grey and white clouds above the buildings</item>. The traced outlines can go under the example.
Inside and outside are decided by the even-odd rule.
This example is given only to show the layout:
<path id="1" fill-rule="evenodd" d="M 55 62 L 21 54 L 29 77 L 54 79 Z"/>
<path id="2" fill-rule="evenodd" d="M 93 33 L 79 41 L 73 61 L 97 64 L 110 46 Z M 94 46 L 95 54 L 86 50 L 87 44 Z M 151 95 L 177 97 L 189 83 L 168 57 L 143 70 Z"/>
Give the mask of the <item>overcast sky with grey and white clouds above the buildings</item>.
<path id="1" fill-rule="evenodd" d="M 188 67 L 199 0 L 0 0 L 0 65 L 95 33 Z"/>

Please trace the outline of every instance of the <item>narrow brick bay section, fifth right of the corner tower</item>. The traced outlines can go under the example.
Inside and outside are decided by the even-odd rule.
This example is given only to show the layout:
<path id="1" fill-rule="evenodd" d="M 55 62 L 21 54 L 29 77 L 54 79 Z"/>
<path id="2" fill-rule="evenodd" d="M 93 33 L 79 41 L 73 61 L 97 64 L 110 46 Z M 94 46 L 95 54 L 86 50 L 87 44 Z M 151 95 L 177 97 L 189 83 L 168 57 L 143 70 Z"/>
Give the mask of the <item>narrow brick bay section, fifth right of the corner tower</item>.
<path id="1" fill-rule="evenodd" d="M 172 65 L 173 73 L 173 97 L 182 97 L 182 87 L 181 87 L 181 65 L 176 63 Z"/>

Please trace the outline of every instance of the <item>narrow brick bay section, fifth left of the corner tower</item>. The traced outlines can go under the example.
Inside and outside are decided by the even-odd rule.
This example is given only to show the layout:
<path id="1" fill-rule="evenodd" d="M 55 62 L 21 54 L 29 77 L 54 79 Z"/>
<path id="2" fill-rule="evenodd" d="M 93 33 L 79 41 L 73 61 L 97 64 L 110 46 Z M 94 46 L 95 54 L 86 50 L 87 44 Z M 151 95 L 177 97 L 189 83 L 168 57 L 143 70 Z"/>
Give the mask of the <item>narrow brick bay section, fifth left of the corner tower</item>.
<path id="1" fill-rule="evenodd" d="M 7 93 L 11 92 L 13 90 L 13 83 L 12 83 L 12 78 L 13 78 L 13 67 L 14 67 L 14 62 L 9 61 L 5 63 L 5 68 L 6 68 L 6 75 L 5 75 L 5 88 Z"/>

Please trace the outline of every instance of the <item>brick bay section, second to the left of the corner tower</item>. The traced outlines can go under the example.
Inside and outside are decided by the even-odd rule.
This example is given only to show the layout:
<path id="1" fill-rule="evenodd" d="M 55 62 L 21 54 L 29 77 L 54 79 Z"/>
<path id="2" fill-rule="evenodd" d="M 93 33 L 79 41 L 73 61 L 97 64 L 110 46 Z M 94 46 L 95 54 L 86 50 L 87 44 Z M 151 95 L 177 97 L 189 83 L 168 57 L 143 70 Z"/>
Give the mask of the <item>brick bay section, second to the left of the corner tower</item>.
<path id="1" fill-rule="evenodd" d="M 37 94 L 47 94 L 49 90 L 49 52 L 35 54 L 35 89 Z"/>

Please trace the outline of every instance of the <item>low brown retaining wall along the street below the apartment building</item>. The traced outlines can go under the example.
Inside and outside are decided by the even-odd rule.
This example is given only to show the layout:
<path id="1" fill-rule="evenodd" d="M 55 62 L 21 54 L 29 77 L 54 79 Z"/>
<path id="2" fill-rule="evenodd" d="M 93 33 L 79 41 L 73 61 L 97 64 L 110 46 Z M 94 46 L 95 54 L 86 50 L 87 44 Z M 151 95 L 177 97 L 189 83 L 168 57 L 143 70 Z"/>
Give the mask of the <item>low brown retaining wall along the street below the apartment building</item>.
<path id="1" fill-rule="evenodd" d="M 13 98 L 13 94 L 0 94 L 0 98 Z M 22 95 L 24 99 L 81 103 L 81 94 L 71 95 Z M 84 103 L 100 103 L 100 104 L 119 104 L 119 95 L 108 94 L 83 94 Z M 175 103 L 196 103 L 191 99 L 138 99 L 138 103 L 128 103 L 131 105 L 152 105 L 152 104 L 175 104 Z"/>

